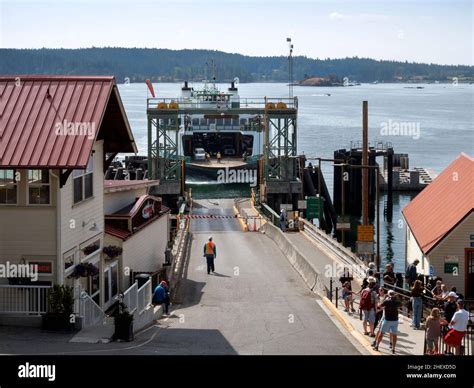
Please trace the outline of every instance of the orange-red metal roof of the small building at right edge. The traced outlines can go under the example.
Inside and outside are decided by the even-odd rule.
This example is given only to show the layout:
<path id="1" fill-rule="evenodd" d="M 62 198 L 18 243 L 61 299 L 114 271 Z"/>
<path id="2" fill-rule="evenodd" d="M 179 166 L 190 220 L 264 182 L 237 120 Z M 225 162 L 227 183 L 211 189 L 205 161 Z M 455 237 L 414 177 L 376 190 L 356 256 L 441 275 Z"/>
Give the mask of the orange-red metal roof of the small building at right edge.
<path id="1" fill-rule="evenodd" d="M 474 159 L 462 153 L 403 209 L 424 254 L 474 209 Z"/>

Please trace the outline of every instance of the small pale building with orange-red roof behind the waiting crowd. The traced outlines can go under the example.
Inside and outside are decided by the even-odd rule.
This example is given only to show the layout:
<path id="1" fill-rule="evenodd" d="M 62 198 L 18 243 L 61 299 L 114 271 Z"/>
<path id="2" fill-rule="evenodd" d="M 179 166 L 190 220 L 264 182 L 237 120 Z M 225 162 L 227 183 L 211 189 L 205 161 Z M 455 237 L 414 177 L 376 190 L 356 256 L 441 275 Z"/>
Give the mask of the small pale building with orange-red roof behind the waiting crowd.
<path id="1" fill-rule="evenodd" d="M 460 154 L 404 209 L 406 260 L 474 298 L 474 159 Z"/>

